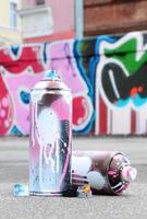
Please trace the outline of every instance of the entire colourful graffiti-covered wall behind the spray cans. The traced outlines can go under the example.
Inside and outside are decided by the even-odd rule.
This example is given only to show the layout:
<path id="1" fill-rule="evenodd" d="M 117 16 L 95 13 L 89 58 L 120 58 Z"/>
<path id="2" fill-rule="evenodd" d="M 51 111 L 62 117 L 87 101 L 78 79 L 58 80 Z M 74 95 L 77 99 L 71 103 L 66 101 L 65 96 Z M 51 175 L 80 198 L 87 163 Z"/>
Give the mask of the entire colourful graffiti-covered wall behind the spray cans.
<path id="1" fill-rule="evenodd" d="M 29 135 L 29 91 L 56 69 L 73 93 L 76 135 L 147 134 L 147 35 L 0 49 L 0 136 Z"/>

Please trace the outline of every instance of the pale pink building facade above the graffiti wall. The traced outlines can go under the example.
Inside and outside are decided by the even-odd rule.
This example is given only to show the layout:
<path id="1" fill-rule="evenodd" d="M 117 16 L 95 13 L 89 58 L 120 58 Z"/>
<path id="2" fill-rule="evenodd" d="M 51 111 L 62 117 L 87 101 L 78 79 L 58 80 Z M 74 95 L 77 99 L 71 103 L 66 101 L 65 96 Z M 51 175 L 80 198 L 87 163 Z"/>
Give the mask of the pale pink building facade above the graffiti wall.
<path id="1" fill-rule="evenodd" d="M 74 0 L 45 0 L 45 5 L 51 8 L 53 33 L 39 37 L 24 38 L 25 43 L 47 42 L 75 37 Z M 22 9 L 36 7 L 36 0 L 23 0 Z"/>

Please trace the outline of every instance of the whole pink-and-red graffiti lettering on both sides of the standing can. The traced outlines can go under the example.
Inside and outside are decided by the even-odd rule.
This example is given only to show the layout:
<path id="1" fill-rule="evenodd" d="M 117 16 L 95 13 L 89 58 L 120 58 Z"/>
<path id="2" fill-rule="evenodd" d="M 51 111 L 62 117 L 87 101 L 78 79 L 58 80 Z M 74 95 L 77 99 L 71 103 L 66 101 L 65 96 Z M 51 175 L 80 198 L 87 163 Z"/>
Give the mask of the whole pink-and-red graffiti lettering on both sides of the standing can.
<path id="1" fill-rule="evenodd" d="M 44 44 L 23 45 L 0 49 L 0 135 L 8 135 L 14 125 L 23 135 L 29 134 L 29 106 L 23 103 L 21 91 L 28 92 L 37 83 L 45 69 L 56 69 L 73 94 L 73 129 L 83 130 L 90 120 L 93 105 L 88 87 L 81 76 L 73 56 L 73 42 L 48 44 L 46 65 Z"/>

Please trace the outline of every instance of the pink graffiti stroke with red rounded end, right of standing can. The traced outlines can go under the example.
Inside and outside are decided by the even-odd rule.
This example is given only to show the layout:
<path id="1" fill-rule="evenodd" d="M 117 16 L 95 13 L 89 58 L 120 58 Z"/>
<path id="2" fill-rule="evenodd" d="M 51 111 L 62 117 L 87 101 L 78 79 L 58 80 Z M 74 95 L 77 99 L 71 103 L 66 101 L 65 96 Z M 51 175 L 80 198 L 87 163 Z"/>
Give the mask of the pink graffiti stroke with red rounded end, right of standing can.
<path id="1" fill-rule="evenodd" d="M 48 47 L 51 57 L 49 68 L 56 69 L 73 93 L 73 129 L 81 130 L 89 122 L 93 113 L 88 88 L 83 80 L 73 57 L 73 42 L 53 43 Z"/>

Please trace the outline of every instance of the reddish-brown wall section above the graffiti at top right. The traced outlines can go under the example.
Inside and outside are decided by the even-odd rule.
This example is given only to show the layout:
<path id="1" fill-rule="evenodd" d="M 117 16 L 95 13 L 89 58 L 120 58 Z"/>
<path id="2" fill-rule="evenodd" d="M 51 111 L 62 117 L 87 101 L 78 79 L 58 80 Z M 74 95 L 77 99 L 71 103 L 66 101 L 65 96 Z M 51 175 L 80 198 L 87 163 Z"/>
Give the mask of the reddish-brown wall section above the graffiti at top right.
<path id="1" fill-rule="evenodd" d="M 145 0 L 84 0 L 84 34 L 119 34 L 147 30 Z"/>

